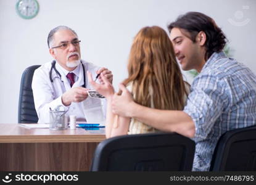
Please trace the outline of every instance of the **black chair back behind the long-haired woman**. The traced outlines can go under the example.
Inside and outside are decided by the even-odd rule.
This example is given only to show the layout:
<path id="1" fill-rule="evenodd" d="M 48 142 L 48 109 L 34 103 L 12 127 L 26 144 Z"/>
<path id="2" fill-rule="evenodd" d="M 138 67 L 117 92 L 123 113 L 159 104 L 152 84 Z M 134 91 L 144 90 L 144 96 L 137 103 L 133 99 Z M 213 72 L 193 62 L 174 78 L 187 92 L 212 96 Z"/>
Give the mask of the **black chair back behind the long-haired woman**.
<path id="1" fill-rule="evenodd" d="M 117 136 L 96 148 L 91 171 L 191 171 L 195 143 L 176 133 Z"/>

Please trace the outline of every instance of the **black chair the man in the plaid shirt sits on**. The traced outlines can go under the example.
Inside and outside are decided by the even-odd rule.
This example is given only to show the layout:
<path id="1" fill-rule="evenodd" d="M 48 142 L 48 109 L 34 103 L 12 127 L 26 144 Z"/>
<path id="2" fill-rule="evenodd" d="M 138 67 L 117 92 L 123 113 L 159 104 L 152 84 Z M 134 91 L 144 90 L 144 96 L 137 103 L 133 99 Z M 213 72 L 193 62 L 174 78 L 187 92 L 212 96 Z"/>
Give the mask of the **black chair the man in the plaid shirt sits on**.
<path id="1" fill-rule="evenodd" d="M 223 134 L 215 147 L 210 171 L 256 171 L 256 126 Z"/>

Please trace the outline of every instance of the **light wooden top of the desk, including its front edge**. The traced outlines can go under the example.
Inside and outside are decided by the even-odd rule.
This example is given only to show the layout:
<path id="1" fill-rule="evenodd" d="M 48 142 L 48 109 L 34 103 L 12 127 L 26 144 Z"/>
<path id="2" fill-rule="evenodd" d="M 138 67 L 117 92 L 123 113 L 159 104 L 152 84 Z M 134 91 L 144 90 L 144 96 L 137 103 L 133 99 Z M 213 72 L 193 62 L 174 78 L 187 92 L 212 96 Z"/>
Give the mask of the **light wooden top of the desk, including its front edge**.
<path id="1" fill-rule="evenodd" d="M 49 130 L 49 128 L 25 128 L 19 124 L 0 124 L 0 143 L 18 142 L 101 142 L 105 129 Z"/>

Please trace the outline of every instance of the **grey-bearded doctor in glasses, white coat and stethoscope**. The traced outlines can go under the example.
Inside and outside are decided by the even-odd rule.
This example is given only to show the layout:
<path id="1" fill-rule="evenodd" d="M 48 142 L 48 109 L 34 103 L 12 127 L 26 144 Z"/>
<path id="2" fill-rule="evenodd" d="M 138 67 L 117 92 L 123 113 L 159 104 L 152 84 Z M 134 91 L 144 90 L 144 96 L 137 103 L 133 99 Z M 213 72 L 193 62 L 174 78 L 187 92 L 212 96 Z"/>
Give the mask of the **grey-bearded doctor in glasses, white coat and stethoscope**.
<path id="1" fill-rule="evenodd" d="M 47 43 L 54 60 L 36 69 L 32 81 L 38 123 L 49 123 L 49 109 L 54 110 L 59 106 L 67 110 L 66 115 L 76 115 L 77 120 L 86 121 L 87 107 L 100 108 L 101 101 L 104 101 L 88 97 L 86 91 L 92 87 L 86 72 L 93 73 L 94 79 L 102 73 L 110 83 L 113 80 L 112 72 L 81 60 L 80 40 L 69 27 L 52 29 Z M 100 76 L 97 80 L 103 83 Z"/>

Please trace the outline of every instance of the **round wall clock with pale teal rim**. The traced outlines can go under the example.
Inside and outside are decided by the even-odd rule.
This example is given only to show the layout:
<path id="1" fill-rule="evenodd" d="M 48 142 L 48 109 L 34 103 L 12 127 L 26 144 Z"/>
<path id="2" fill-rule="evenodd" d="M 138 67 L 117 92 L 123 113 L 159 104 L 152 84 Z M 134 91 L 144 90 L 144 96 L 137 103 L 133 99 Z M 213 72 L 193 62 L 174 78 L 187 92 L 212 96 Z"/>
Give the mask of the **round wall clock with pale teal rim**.
<path id="1" fill-rule="evenodd" d="M 32 19 L 38 14 L 39 4 L 36 0 L 20 0 L 16 4 L 16 10 L 23 19 Z"/>

